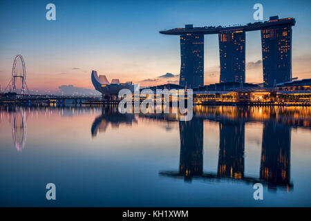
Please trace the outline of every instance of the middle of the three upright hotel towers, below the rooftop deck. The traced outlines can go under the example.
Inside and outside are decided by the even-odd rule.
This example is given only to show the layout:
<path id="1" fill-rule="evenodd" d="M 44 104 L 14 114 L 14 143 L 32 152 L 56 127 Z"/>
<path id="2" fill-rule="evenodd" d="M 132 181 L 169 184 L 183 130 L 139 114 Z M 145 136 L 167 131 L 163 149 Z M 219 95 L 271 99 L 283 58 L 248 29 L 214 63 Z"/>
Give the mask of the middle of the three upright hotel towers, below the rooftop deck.
<path id="1" fill-rule="evenodd" d="M 245 31 L 224 31 L 218 34 L 220 82 L 245 82 Z"/>

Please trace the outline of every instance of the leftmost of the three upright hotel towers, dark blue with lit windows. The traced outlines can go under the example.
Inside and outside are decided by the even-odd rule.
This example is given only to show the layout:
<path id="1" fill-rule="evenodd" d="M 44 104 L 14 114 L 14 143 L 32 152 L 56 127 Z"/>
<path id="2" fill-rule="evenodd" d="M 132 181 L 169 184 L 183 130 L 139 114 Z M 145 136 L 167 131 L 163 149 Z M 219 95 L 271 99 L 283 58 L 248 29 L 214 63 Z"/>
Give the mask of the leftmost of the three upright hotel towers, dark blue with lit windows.
<path id="1" fill-rule="evenodd" d="M 186 25 L 191 29 L 192 25 Z M 204 85 L 204 35 L 180 35 L 180 86 L 197 88 Z"/>

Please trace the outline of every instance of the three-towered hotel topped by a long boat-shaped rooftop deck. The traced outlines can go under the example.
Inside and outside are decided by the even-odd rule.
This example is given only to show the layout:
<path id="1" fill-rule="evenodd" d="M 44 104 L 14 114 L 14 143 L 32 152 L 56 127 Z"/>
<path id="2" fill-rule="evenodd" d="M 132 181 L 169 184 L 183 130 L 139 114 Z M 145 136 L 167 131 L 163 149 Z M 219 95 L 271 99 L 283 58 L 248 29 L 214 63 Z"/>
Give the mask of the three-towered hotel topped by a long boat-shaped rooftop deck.
<path id="1" fill-rule="evenodd" d="M 164 35 L 180 35 L 180 86 L 204 86 L 204 35 L 218 34 L 220 83 L 245 82 L 245 32 L 261 30 L 263 83 L 265 87 L 292 79 L 292 26 L 295 19 L 270 17 L 269 21 L 245 26 L 193 27 L 162 30 Z"/>

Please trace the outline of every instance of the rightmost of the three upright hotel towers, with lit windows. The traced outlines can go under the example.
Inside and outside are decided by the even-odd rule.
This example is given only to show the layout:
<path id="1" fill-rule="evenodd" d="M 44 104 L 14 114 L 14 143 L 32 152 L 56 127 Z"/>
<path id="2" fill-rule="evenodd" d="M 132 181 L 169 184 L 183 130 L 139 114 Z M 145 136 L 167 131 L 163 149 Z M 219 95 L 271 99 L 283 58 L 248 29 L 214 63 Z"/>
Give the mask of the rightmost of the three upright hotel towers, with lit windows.
<path id="1" fill-rule="evenodd" d="M 288 18 L 291 19 L 291 18 Z M 267 21 L 285 21 L 278 16 Z M 292 78 L 292 23 L 276 23 L 261 29 L 263 51 L 263 82 L 266 87 Z"/>

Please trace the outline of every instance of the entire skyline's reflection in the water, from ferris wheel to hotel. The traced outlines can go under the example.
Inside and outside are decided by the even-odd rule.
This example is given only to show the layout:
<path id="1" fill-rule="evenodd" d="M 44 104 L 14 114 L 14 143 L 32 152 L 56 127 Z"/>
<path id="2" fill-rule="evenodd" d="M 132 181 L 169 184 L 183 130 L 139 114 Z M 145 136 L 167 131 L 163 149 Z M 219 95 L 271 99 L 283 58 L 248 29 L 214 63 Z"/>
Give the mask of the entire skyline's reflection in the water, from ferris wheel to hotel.
<path id="1" fill-rule="evenodd" d="M 27 111 L 25 111 L 27 110 Z M 292 189 L 290 182 L 290 148 L 292 128 L 310 129 L 311 108 L 306 107 L 236 107 L 236 106 L 196 106 L 194 118 L 180 122 L 177 114 L 131 115 L 120 114 L 117 106 L 91 107 L 10 107 L 3 111 L 10 113 L 12 139 L 17 151 L 26 143 L 26 112 L 30 117 L 44 113 L 44 117 L 75 117 L 77 115 L 97 115 L 91 126 L 92 137 L 105 132 L 109 124 L 112 128 L 138 124 L 138 118 L 165 122 L 166 131 L 179 126 L 180 162 L 178 171 L 160 171 L 160 175 L 182 177 L 186 182 L 193 179 L 209 181 L 232 180 L 246 183 L 261 182 L 269 189 L 284 187 Z M 100 115 L 98 115 L 100 113 Z M 216 122 L 219 130 L 219 150 L 217 169 L 203 170 L 203 125 L 205 121 Z M 245 175 L 245 124 L 262 122 L 263 137 L 261 164 L 258 176 Z M 139 137 L 140 135 L 138 135 Z"/>

